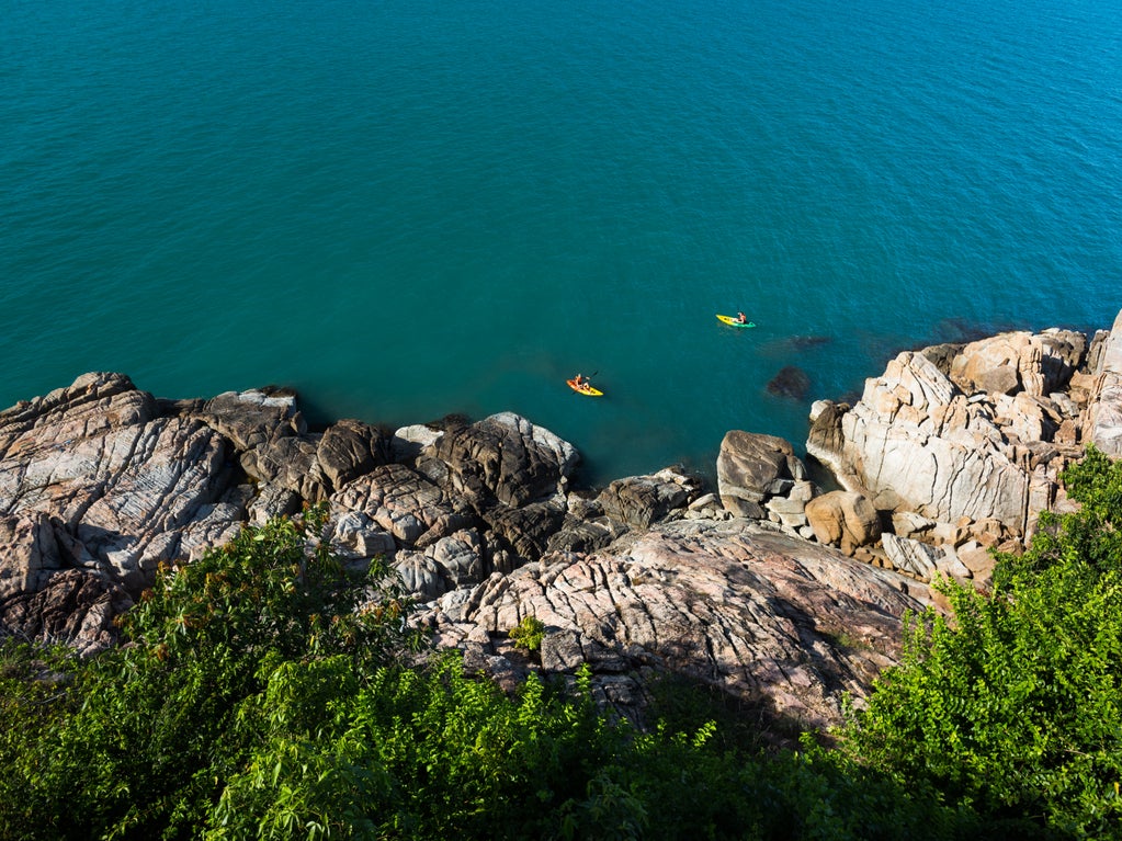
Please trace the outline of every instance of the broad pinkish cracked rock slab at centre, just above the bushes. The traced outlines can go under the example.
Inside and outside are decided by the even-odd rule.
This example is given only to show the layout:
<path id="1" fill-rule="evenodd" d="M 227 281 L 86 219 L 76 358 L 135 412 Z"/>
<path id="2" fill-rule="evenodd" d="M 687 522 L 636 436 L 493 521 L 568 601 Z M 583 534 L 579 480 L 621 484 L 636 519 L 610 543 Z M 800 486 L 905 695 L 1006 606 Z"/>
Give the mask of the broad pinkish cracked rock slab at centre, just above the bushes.
<path id="1" fill-rule="evenodd" d="M 506 635 L 533 616 L 546 673 L 588 662 L 601 685 L 631 681 L 635 702 L 643 674 L 669 671 L 825 727 L 840 721 L 843 693 L 861 697 L 893 662 L 900 617 L 925 603 L 901 582 L 765 526 L 677 521 L 494 574 L 422 619 L 493 672 L 518 662 Z"/>

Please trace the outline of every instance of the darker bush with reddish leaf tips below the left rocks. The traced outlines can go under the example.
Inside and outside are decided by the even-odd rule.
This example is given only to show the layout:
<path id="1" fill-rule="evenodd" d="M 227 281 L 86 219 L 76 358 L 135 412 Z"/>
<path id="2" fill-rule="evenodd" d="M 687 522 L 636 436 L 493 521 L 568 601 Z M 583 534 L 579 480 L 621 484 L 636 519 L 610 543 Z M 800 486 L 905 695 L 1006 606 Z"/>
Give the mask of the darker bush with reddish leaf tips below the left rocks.
<path id="1" fill-rule="evenodd" d="M 193 838 L 259 737 L 276 671 L 393 660 L 410 641 L 406 606 L 384 565 L 340 565 L 318 539 L 323 518 L 276 519 L 160 570 L 123 617 L 125 645 L 84 663 L 48 656 L 71 676 L 50 713 L 6 682 L 17 774 L 0 775 L 2 837 Z"/>

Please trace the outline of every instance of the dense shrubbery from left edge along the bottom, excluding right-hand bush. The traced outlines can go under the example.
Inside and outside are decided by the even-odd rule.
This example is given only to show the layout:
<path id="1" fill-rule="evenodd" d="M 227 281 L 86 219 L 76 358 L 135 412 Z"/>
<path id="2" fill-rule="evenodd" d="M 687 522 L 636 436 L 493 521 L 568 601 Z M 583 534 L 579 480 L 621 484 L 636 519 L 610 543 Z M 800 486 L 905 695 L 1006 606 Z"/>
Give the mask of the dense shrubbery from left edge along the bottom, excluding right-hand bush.
<path id="1" fill-rule="evenodd" d="M 588 669 L 514 696 L 406 656 L 385 564 L 323 510 L 164 570 L 90 660 L 0 658 L 0 839 L 951 839 L 969 810 L 820 749 L 765 757 L 705 697 L 638 732 Z M 528 627 L 535 631 L 534 627 Z M 535 631 L 536 632 L 536 631 Z M 531 637 L 533 634 L 531 634 Z M 410 665 L 407 665 L 410 664 Z M 58 678 L 65 676 L 65 680 Z M 664 709 L 670 709 L 666 706 Z"/>

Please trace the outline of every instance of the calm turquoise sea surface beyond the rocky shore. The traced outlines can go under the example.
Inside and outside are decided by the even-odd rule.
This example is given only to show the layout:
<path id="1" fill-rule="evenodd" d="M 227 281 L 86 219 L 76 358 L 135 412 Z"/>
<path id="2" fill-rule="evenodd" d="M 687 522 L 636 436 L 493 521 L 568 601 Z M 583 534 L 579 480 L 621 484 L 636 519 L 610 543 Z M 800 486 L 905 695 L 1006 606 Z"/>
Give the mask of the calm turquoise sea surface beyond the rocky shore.
<path id="1" fill-rule="evenodd" d="M 0 8 L 0 406 L 278 383 L 711 472 L 903 348 L 1122 307 L 1119 0 Z"/>

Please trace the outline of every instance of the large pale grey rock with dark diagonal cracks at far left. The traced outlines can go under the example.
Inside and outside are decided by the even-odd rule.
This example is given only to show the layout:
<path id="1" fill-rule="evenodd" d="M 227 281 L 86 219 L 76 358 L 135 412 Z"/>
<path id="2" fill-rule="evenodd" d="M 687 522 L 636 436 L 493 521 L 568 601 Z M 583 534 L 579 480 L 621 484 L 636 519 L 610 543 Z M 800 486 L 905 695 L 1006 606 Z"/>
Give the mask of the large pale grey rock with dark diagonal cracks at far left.
<path id="1" fill-rule="evenodd" d="M 224 440 L 155 410 L 128 378 L 86 375 L 0 413 L 0 511 L 52 519 L 45 565 L 77 564 L 138 586 L 176 556 L 178 532 L 226 490 Z M 19 564 L 11 554 L 0 561 Z"/>

